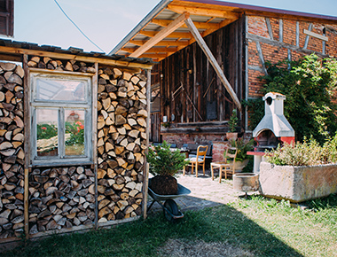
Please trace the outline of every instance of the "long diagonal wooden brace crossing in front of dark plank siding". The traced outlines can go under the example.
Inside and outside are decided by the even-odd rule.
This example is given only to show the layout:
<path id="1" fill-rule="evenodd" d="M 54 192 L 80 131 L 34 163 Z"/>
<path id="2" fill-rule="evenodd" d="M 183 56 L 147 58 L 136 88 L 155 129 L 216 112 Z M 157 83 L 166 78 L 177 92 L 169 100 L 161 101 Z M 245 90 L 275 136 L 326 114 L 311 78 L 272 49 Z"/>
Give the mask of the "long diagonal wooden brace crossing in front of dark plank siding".
<path id="1" fill-rule="evenodd" d="M 219 66 L 219 64 L 216 62 L 216 58 L 213 56 L 212 52 L 209 50 L 207 43 L 204 41 L 202 36 L 200 35 L 197 27 L 194 26 L 192 19 L 188 18 L 185 20 L 186 25 L 189 27 L 192 35 L 194 36 L 195 40 L 199 43 L 200 48 L 204 53 L 206 54 L 209 63 L 214 67 L 216 70 L 216 74 L 219 76 L 221 82 L 223 82 L 223 86 L 228 91 L 228 93 L 231 95 L 231 98 L 233 99 L 233 102 L 235 105 L 237 105 L 239 111 L 241 111 L 242 107 L 239 102 L 239 98 L 235 94 L 235 91 L 231 88 L 230 82 L 227 81 L 225 75 L 223 74 L 223 70 Z"/>

